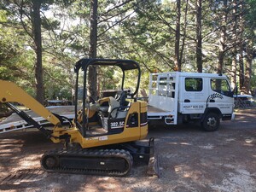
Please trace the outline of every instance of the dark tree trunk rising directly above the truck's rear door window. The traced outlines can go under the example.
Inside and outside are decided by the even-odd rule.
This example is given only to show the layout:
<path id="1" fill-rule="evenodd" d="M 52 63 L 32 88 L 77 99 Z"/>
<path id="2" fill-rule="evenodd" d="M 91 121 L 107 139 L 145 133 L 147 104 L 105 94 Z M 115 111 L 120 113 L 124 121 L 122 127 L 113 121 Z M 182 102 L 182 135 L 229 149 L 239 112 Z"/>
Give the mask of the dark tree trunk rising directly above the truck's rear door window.
<path id="1" fill-rule="evenodd" d="M 196 1 L 196 64 L 197 72 L 202 73 L 202 38 L 201 38 L 201 0 Z"/>

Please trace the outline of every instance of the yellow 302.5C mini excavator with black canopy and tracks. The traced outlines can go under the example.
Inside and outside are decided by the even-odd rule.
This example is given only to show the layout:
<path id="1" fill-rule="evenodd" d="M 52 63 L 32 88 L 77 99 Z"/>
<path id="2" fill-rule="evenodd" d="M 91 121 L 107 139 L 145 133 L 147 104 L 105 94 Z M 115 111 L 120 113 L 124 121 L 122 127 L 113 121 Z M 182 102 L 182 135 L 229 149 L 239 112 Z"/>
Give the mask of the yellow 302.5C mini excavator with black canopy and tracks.
<path id="1" fill-rule="evenodd" d="M 88 96 L 89 67 L 118 67 L 122 72 L 121 88 L 115 96 L 104 96 L 93 101 Z M 6 104 L 22 119 L 42 131 L 53 143 L 64 143 L 42 156 L 41 166 L 47 172 L 67 172 L 125 176 L 133 162 L 148 163 L 148 174 L 158 175 L 154 156 L 154 138 L 148 143 L 137 143 L 148 135 L 147 103 L 135 97 L 139 89 L 141 70 L 136 61 L 110 59 L 81 59 L 76 73 L 75 114 L 67 121 L 50 113 L 16 84 L 0 80 L 0 102 Z M 125 90 L 125 75 L 137 74 L 135 90 Z M 34 119 L 16 108 L 12 102 L 22 103 L 39 116 L 47 119 L 53 129 L 39 125 Z"/>

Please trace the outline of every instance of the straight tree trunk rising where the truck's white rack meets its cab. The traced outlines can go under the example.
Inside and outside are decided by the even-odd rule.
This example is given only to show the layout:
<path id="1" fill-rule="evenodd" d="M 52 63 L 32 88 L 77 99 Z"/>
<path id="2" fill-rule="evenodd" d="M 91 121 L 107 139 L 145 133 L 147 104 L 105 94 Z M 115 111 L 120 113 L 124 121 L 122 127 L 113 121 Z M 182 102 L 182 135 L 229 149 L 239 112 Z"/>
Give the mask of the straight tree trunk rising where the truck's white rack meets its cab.
<path id="1" fill-rule="evenodd" d="M 176 8 L 176 31 L 175 31 L 175 56 L 174 56 L 174 65 L 175 69 L 180 72 L 181 71 L 181 62 L 179 59 L 179 41 L 180 41 L 180 13 L 181 5 L 180 0 L 177 0 L 177 8 Z"/>

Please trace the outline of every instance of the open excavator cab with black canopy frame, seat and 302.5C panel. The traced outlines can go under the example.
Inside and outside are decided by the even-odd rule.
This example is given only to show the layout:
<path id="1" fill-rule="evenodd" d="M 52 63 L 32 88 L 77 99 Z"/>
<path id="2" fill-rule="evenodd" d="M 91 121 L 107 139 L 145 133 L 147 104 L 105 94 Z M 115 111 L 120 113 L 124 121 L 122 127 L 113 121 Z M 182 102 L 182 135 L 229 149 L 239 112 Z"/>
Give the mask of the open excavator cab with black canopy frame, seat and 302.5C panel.
<path id="1" fill-rule="evenodd" d="M 122 79 L 115 96 L 103 97 L 97 101 L 88 96 L 89 67 L 115 67 L 115 69 L 119 69 L 122 73 Z M 125 81 L 129 78 L 125 75 L 128 71 L 137 74 L 134 91 L 125 90 Z M 139 89 L 141 76 L 140 67 L 136 61 L 81 59 L 75 65 L 75 73 L 76 103 L 73 123 L 84 138 L 120 134 L 119 140 L 127 140 L 129 137 L 131 140 L 139 140 L 147 136 L 147 104 L 134 98 Z M 80 110 L 79 105 L 82 107 Z"/>

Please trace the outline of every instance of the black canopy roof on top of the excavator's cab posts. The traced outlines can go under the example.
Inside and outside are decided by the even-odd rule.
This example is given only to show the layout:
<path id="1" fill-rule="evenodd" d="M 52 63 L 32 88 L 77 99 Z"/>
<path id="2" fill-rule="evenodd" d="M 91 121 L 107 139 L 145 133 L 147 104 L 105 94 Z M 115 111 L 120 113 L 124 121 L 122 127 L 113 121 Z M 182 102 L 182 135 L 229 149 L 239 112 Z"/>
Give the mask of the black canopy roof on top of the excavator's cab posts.
<path id="1" fill-rule="evenodd" d="M 138 69 L 139 65 L 136 61 L 132 60 L 113 60 L 113 59 L 80 59 L 75 65 L 75 72 L 78 72 L 82 67 L 86 70 L 88 66 L 118 66 L 123 71 Z"/>

